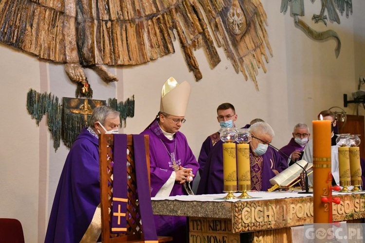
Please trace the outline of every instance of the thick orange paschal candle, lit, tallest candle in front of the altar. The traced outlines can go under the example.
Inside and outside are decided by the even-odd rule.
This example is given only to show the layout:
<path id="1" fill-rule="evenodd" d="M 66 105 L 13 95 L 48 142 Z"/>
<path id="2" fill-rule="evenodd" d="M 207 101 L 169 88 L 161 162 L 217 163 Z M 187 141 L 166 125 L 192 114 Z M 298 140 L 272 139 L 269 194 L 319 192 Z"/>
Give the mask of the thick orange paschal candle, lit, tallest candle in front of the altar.
<path id="1" fill-rule="evenodd" d="M 331 184 L 331 121 L 312 121 L 313 125 L 313 221 L 329 223 L 329 203 L 322 197 L 332 194 Z"/>

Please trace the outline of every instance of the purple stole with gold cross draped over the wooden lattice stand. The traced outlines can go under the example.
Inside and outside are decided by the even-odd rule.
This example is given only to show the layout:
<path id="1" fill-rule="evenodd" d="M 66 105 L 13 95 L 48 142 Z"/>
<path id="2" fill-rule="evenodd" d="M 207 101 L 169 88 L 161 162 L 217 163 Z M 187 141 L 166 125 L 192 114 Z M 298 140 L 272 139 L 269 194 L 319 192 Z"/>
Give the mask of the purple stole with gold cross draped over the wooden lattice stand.
<path id="1" fill-rule="evenodd" d="M 134 162 L 137 181 L 137 199 L 145 241 L 157 242 L 155 221 L 153 220 L 151 197 L 149 191 L 146 148 L 144 135 L 133 135 Z M 127 231 L 127 135 L 114 135 L 113 166 L 113 206 L 111 231 L 124 233 Z M 120 219 L 122 217 L 122 220 Z"/>

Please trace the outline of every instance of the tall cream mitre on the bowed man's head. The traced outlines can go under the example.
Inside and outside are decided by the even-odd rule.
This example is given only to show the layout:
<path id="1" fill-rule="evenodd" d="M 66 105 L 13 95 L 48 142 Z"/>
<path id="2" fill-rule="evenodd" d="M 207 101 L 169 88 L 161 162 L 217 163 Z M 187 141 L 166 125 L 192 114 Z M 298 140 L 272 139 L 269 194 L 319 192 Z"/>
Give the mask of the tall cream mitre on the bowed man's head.
<path id="1" fill-rule="evenodd" d="M 166 114 L 184 117 L 190 96 L 190 85 L 184 81 L 180 85 L 173 78 L 167 79 L 161 91 L 160 111 Z"/>

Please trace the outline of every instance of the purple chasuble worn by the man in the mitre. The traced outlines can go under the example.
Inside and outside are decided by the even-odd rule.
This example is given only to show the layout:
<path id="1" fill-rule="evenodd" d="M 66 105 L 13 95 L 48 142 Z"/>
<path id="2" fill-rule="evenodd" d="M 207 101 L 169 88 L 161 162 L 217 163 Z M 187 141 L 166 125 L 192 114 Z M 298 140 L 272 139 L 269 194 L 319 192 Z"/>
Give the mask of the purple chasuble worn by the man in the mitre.
<path id="1" fill-rule="evenodd" d="M 167 139 L 156 119 L 141 134 L 149 136 L 152 197 L 164 186 L 173 172 L 173 163 L 170 155 L 175 156 L 176 164 L 178 166 L 181 165 L 184 168 L 192 168 L 192 173 L 197 174 L 199 164 L 195 159 L 185 136 L 181 132 L 177 132 L 174 135 L 174 139 Z M 185 194 L 183 186 L 175 181 L 170 196 Z M 155 215 L 154 218 L 158 235 L 172 236 L 174 242 L 186 242 L 186 217 Z"/>

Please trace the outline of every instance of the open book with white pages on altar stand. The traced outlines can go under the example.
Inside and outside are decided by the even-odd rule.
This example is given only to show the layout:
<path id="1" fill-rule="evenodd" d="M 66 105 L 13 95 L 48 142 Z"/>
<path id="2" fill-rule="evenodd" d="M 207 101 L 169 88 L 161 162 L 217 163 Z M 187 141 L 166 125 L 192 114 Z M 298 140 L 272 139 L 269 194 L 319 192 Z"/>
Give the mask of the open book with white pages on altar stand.
<path id="1" fill-rule="evenodd" d="M 297 164 L 292 164 L 287 169 L 285 169 L 280 174 L 274 176 L 270 179 L 271 185 L 278 186 L 278 187 L 291 187 L 293 184 L 296 184 L 299 180 L 304 182 L 304 175 L 301 176 L 303 172 L 303 168 L 306 169 L 307 173 L 310 174 L 310 169 L 313 167 L 313 164 L 308 163 L 305 160 L 296 161 Z M 303 168 L 301 168 L 298 164 L 300 164 Z M 305 173 L 303 173 L 305 174 Z M 299 178 L 303 177 L 303 178 Z M 302 183 L 304 184 L 304 183 Z"/>

